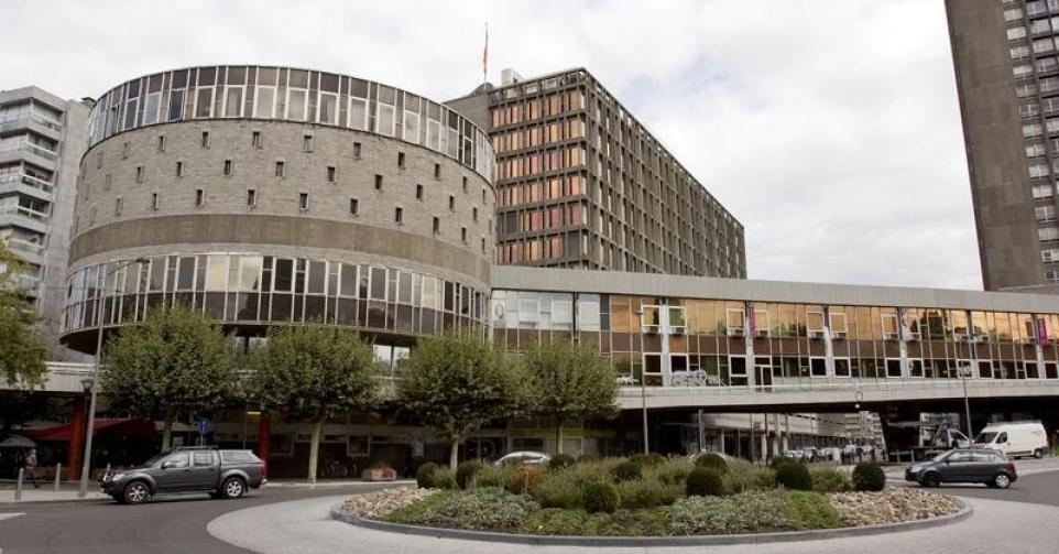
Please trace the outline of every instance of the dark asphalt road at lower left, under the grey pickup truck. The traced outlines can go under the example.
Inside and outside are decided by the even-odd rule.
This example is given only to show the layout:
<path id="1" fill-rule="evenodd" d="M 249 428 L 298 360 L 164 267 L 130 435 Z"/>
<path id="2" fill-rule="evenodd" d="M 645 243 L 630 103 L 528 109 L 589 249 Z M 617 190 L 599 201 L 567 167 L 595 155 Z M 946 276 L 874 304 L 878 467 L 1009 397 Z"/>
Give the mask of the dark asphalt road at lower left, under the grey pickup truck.
<path id="1" fill-rule="evenodd" d="M 206 524 L 251 506 L 384 487 L 266 488 L 240 500 L 188 495 L 157 497 L 141 506 L 110 501 L 0 504 L 0 554 L 248 554 L 210 536 Z"/>

